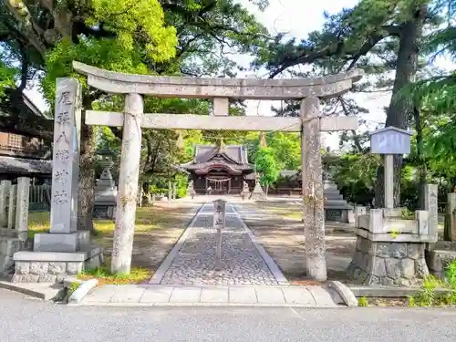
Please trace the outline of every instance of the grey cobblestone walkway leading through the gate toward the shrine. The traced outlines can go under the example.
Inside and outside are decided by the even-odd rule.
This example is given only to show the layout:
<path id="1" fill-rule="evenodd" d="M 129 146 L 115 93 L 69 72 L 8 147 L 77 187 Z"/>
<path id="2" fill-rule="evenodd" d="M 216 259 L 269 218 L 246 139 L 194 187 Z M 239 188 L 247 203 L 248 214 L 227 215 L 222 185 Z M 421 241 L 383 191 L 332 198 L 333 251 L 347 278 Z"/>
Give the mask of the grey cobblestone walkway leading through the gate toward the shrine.
<path id="1" fill-rule="evenodd" d="M 264 258 L 244 229 L 232 204 L 226 206 L 223 230 L 223 269 L 215 271 L 216 232 L 212 228 L 212 203 L 202 206 L 189 227 L 181 250 L 164 273 L 162 285 L 277 285 Z"/>

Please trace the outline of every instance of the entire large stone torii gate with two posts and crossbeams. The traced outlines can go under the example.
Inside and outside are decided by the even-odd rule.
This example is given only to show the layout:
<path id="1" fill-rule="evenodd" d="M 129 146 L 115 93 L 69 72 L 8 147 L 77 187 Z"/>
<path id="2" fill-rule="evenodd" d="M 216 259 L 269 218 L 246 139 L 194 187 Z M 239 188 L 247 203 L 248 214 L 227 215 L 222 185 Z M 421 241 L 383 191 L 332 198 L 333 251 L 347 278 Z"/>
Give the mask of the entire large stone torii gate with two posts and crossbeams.
<path id="1" fill-rule="evenodd" d="M 362 77 L 361 70 L 321 78 L 233 79 L 130 75 L 78 62 L 74 62 L 73 67 L 88 76 L 89 86 L 109 93 L 125 94 L 123 113 L 88 110 L 86 114 L 88 125 L 123 127 L 112 272 L 130 273 L 140 171 L 141 128 L 275 130 L 301 132 L 306 271 L 313 279 L 326 280 L 320 132 L 357 130 L 358 119 L 322 117 L 319 98 L 335 97 L 347 92 Z M 80 96 L 77 83 L 73 80 L 75 89 L 72 92 Z M 68 90 L 59 88 L 59 84 L 63 83 L 57 81 L 57 98 L 59 93 Z M 213 114 L 144 114 L 143 95 L 159 98 L 213 98 Z M 229 98 L 301 99 L 300 118 L 231 117 L 228 115 Z M 76 112 L 78 117 L 78 110 Z M 71 115 L 74 116 L 74 113 Z M 53 174 L 53 179 L 55 177 Z"/>

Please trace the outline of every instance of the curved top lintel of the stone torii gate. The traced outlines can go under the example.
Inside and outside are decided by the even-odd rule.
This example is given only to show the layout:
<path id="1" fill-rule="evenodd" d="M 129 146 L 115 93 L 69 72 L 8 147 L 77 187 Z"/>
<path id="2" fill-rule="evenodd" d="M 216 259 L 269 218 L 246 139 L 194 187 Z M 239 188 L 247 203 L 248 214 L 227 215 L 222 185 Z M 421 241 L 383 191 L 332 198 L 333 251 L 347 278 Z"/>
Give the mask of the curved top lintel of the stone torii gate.
<path id="1" fill-rule="evenodd" d="M 316 78 L 181 78 L 124 74 L 83 63 L 73 68 L 88 76 L 88 85 L 115 94 L 138 93 L 160 98 L 332 98 L 347 92 L 362 78 L 361 69 Z"/>

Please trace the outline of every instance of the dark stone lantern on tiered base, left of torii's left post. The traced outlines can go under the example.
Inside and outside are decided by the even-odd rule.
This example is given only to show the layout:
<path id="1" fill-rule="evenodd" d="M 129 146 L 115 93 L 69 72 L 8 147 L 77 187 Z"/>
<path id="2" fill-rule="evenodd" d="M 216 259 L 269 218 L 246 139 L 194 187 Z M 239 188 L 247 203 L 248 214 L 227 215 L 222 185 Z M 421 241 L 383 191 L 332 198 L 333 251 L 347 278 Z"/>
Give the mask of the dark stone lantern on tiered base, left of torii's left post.
<path id="1" fill-rule="evenodd" d="M 109 149 L 101 149 L 97 152 L 98 163 L 103 168 L 95 186 L 94 216 L 99 218 L 114 219 L 116 212 L 117 187 L 110 169 L 114 162 L 113 153 Z"/>

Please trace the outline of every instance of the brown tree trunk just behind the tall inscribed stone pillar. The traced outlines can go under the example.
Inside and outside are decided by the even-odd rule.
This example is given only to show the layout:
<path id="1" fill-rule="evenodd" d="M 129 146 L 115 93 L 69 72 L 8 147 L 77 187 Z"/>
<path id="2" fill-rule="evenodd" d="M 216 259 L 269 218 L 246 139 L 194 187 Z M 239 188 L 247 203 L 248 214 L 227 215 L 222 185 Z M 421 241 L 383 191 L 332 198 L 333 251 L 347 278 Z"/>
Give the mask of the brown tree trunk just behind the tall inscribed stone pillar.
<path id="1" fill-rule="evenodd" d="M 84 98 L 84 109 L 91 108 L 91 100 Z M 95 204 L 95 151 L 97 143 L 92 126 L 86 125 L 86 110 L 82 111 L 81 156 L 79 169 L 78 230 L 94 232 L 93 208 Z"/>

